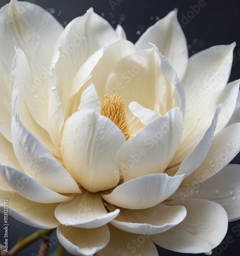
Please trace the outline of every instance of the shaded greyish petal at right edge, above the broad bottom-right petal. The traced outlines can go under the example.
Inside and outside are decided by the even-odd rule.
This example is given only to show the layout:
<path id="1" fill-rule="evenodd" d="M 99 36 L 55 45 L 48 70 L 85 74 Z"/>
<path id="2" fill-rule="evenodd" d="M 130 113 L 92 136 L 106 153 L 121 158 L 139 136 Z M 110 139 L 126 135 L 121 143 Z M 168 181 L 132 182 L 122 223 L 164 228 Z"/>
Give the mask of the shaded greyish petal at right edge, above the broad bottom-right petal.
<path id="1" fill-rule="evenodd" d="M 229 164 L 200 184 L 179 187 L 171 199 L 199 198 L 219 203 L 228 215 L 228 221 L 240 218 L 240 165 Z"/>

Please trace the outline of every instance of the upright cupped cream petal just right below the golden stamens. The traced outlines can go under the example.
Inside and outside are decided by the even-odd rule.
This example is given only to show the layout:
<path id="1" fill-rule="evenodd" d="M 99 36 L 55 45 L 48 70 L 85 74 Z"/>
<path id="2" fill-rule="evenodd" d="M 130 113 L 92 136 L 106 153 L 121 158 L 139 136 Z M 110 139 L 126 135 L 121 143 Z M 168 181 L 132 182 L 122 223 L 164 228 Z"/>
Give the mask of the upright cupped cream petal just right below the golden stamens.
<path id="1" fill-rule="evenodd" d="M 182 112 L 174 108 L 126 141 L 117 154 L 124 182 L 146 174 L 163 173 L 177 150 L 182 130 Z"/>

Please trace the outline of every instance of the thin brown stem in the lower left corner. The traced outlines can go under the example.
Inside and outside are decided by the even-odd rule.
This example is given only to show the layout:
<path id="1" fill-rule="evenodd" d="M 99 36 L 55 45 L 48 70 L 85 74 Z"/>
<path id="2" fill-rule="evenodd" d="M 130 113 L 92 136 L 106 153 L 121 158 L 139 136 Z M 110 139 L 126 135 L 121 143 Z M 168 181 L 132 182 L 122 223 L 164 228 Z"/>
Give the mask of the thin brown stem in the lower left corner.
<path id="1" fill-rule="evenodd" d="M 30 234 L 30 236 L 14 245 L 9 252 L 2 251 L 0 256 L 14 256 L 17 252 L 23 250 L 25 247 L 37 241 L 38 239 L 46 240 L 46 236 L 48 236 L 52 231 L 53 229 L 39 229 L 38 231 Z"/>

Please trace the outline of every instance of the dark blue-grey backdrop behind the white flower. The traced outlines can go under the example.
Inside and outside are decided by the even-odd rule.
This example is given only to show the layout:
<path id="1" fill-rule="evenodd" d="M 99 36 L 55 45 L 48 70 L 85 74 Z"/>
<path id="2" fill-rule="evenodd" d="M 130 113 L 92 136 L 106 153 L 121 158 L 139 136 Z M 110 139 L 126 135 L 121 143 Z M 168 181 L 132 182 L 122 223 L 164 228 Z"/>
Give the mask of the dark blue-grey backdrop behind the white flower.
<path id="1" fill-rule="evenodd" d="M 203 49 L 214 45 L 231 44 L 236 42 L 234 50 L 234 61 L 230 81 L 240 78 L 240 1 L 220 1 L 205 0 L 205 7 L 198 8 L 204 0 L 119 0 L 112 1 L 117 5 L 114 9 L 108 0 L 31 0 L 35 4 L 47 9 L 56 19 L 66 26 L 73 18 L 83 15 L 86 10 L 93 7 L 95 12 L 103 16 L 108 22 L 116 28 L 121 24 L 124 28 L 127 39 L 136 42 L 140 35 L 159 18 L 164 17 L 174 8 L 178 9 L 179 22 L 187 38 L 189 56 Z M 0 7 L 7 4 L 8 0 L 0 0 Z M 200 4 L 201 5 L 201 4 Z M 193 9 L 195 12 L 193 12 Z M 239 163 L 239 156 L 233 162 Z M 20 236 L 27 236 L 35 228 L 23 225 L 9 217 L 9 248 L 17 242 Z M 0 223 L 3 223 L 1 215 Z M 229 223 L 227 236 L 232 239 L 225 240 L 213 250 L 213 255 L 240 256 L 240 236 L 233 230 L 239 230 L 240 220 Z M 2 231 L 0 232 L 2 233 Z M 1 234 L 2 235 L 2 234 Z M 3 237 L 0 237 L 2 241 Z M 52 244 L 56 243 L 56 235 L 53 233 Z M 20 252 L 20 256 L 33 256 L 37 254 L 39 242 Z M 159 255 L 183 255 L 182 253 L 171 252 L 162 248 L 159 249 Z M 50 250 L 48 255 L 51 255 Z M 34 254 L 36 253 L 36 254 Z M 53 254 L 52 254 L 53 255 Z M 67 254 L 66 255 L 70 255 Z M 205 254 L 196 254 L 205 255 Z M 112 255 L 109 255 L 112 256 Z M 149 255 L 150 256 L 150 255 Z"/>

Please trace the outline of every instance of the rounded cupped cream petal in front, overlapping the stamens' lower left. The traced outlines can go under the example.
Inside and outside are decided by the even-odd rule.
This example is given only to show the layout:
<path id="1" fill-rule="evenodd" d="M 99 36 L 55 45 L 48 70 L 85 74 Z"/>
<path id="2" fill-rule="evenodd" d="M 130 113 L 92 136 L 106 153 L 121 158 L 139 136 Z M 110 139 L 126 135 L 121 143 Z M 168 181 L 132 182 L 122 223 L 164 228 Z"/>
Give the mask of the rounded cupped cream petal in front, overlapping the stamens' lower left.
<path id="1" fill-rule="evenodd" d="M 123 133 L 110 119 L 93 110 L 81 110 L 64 125 L 63 160 L 86 190 L 110 189 L 119 182 L 116 153 L 124 142 Z"/>

